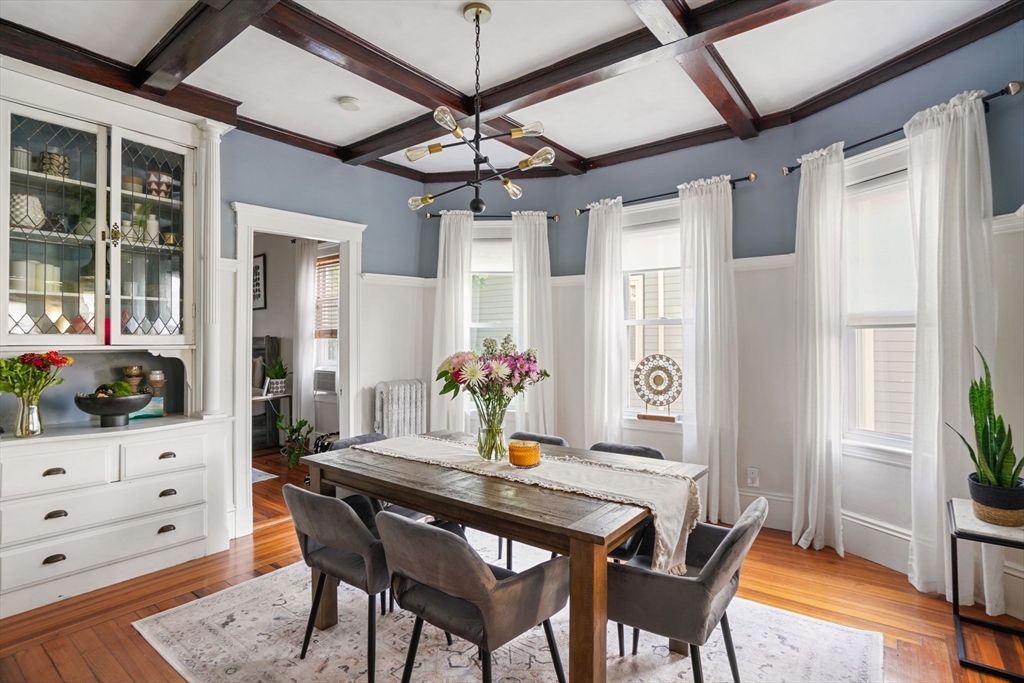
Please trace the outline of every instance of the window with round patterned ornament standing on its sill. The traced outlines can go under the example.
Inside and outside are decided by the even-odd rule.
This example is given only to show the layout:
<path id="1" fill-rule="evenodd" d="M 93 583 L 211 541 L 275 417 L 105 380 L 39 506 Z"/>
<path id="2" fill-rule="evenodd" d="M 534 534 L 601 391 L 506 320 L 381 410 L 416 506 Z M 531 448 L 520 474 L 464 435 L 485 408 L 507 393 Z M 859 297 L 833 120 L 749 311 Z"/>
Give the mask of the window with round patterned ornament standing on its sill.
<path id="1" fill-rule="evenodd" d="M 633 372 L 652 353 L 683 366 L 679 203 L 657 202 L 623 212 L 623 274 L 626 287 L 628 373 L 625 414 L 680 415 L 682 402 L 646 407 L 633 389 Z M 688 311 L 692 318 L 693 311 Z"/>

